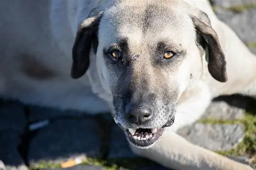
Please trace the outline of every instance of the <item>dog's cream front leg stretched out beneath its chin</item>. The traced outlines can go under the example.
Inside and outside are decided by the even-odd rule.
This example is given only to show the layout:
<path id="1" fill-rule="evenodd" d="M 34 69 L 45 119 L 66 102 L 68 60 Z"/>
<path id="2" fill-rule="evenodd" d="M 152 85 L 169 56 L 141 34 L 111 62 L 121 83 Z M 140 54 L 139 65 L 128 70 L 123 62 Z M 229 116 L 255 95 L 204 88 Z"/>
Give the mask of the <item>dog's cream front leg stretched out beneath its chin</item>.
<path id="1" fill-rule="evenodd" d="M 168 129 L 151 148 L 140 149 L 131 145 L 131 149 L 139 156 L 177 170 L 252 170 L 248 165 L 190 143 Z"/>

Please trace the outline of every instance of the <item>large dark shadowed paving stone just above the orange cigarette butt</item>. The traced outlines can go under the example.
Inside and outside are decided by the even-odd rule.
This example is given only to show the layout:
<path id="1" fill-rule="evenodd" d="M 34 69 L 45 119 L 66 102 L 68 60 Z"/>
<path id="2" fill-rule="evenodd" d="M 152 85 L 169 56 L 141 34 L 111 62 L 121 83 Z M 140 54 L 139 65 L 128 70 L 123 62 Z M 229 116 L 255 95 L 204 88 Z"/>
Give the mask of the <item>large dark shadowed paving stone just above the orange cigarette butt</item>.
<path id="1" fill-rule="evenodd" d="M 100 128 L 90 117 L 61 119 L 40 129 L 31 140 L 28 162 L 58 164 L 78 156 L 100 157 Z"/>

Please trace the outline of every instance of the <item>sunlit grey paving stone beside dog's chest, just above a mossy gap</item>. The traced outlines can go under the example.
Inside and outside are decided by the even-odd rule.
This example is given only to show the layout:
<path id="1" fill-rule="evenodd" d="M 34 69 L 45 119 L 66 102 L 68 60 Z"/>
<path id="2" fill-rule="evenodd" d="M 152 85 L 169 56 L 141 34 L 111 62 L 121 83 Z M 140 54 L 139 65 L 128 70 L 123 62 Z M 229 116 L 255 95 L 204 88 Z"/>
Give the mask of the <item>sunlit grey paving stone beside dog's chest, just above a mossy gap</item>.
<path id="1" fill-rule="evenodd" d="M 215 119 L 242 119 L 244 117 L 244 108 L 246 107 L 246 101 L 233 100 L 233 103 L 238 105 L 230 106 L 225 101 L 212 102 L 206 109 L 202 118 L 215 118 Z"/>

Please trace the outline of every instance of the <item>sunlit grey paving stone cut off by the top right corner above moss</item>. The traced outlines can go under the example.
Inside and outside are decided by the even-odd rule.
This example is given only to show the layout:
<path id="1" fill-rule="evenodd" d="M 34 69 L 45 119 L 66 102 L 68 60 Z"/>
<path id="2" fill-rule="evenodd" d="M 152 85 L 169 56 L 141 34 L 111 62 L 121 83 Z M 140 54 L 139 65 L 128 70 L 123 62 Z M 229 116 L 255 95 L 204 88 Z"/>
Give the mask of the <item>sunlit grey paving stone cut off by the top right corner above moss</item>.
<path id="1" fill-rule="evenodd" d="M 212 5 L 221 6 L 225 8 L 256 4 L 256 0 L 210 0 L 210 2 L 212 3 Z"/>

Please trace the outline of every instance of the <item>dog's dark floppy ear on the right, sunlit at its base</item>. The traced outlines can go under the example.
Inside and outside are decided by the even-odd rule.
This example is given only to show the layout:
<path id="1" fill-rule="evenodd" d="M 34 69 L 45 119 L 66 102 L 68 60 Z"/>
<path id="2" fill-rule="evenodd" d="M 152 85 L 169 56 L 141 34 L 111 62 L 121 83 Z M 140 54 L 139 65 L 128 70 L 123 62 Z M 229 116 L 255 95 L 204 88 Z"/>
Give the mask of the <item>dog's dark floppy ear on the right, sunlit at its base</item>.
<path id="1" fill-rule="evenodd" d="M 208 57 L 208 70 L 210 75 L 219 82 L 227 81 L 226 60 L 222 51 L 217 33 L 211 27 L 210 20 L 206 13 L 200 12 L 198 16 L 190 15 L 197 34 L 204 39 L 206 44 L 206 57 Z"/>

